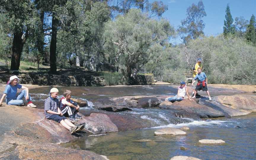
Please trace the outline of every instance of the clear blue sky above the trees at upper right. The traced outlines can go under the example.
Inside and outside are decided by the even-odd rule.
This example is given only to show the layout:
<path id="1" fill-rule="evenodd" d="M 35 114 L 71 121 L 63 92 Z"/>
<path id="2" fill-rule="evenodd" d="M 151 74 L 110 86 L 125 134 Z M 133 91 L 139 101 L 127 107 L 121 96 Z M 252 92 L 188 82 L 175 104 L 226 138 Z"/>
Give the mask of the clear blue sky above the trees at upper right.
<path id="1" fill-rule="evenodd" d="M 152 2 L 153 0 L 150 0 Z M 185 19 L 186 10 L 191 4 L 198 4 L 199 0 L 162 0 L 168 5 L 168 10 L 162 17 L 169 20 L 170 24 L 178 28 L 180 21 Z M 256 0 L 203 0 L 204 10 L 207 14 L 203 18 L 205 22 L 204 34 L 207 36 L 216 36 L 223 33 L 223 25 L 225 19 L 225 10 L 229 4 L 232 18 L 244 17 L 250 20 L 252 14 L 256 15 Z M 171 40 L 171 42 L 180 43 L 179 38 Z"/>

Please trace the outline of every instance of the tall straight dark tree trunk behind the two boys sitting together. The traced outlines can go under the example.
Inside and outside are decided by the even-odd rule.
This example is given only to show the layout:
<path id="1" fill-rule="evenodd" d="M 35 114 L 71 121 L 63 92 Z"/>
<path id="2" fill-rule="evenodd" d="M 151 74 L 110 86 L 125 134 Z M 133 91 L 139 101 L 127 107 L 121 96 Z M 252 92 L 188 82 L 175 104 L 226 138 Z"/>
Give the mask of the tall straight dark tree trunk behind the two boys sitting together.
<path id="1" fill-rule="evenodd" d="M 57 73 L 56 63 L 56 44 L 57 44 L 57 24 L 58 20 L 55 18 L 55 13 L 52 14 L 52 39 L 50 44 L 50 72 Z"/>

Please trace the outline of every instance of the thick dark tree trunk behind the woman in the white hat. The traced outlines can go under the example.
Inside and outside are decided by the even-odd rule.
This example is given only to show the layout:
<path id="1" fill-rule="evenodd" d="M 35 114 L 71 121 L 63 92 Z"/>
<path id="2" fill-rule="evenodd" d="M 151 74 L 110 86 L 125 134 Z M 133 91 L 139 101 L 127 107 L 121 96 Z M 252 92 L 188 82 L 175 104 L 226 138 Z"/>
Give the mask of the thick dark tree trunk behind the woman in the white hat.
<path id="1" fill-rule="evenodd" d="M 20 57 L 23 49 L 22 32 L 16 31 L 13 36 L 11 70 L 19 70 Z"/>

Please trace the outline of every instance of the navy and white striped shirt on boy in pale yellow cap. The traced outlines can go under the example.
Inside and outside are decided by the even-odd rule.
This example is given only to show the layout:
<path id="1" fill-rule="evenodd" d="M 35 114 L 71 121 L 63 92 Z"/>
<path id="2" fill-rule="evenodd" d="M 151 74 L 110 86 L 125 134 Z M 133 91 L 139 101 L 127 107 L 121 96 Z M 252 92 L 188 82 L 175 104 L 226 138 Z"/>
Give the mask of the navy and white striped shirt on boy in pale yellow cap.
<path id="1" fill-rule="evenodd" d="M 59 100 L 49 96 L 44 102 L 44 114 L 46 118 L 49 118 L 52 114 L 47 113 L 48 110 L 58 112 Z"/>

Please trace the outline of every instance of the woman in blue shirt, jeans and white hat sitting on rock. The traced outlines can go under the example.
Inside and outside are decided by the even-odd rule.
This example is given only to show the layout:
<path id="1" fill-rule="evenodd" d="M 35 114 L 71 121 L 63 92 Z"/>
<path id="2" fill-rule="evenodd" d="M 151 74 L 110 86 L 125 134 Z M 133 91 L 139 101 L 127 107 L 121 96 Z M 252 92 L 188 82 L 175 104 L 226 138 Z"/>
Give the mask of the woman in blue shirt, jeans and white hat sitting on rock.
<path id="1" fill-rule="evenodd" d="M 16 105 L 16 106 L 22 106 L 24 105 L 23 102 L 23 97 L 26 99 L 27 106 L 28 107 L 36 107 L 31 101 L 31 97 L 28 94 L 28 88 L 25 86 L 22 86 L 18 84 L 20 82 L 20 79 L 17 76 L 11 76 L 7 86 L 4 89 L 4 94 L 0 100 L 0 106 L 4 100 L 4 97 L 6 97 L 6 104 L 7 105 Z M 17 94 L 17 89 L 23 89 L 18 96 Z"/>

